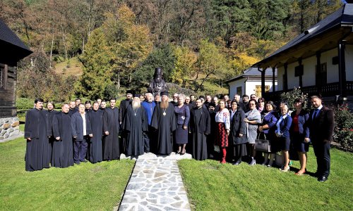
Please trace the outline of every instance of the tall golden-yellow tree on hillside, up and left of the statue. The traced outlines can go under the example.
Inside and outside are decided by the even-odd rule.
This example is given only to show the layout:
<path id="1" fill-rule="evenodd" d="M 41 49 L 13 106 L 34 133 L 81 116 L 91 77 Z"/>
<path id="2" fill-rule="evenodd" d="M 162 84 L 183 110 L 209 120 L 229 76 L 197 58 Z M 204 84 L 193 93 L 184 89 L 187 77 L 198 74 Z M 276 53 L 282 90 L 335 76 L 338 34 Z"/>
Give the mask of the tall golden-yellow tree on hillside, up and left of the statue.
<path id="1" fill-rule="evenodd" d="M 145 25 L 136 25 L 136 16 L 126 5 L 118 8 L 116 14 L 107 13 L 102 30 L 107 34 L 110 51 L 108 53 L 116 88 L 132 81 L 133 71 L 138 63 L 147 58 L 152 50 L 150 31 Z"/>

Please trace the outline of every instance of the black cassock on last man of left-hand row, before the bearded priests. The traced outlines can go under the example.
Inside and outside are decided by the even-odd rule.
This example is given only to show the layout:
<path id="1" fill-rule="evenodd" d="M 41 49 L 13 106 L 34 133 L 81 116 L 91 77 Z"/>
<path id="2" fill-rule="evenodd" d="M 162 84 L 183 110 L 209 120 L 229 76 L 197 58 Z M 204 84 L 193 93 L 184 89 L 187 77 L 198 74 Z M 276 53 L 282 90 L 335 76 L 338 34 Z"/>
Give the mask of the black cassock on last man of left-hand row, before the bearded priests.
<path id="1" fill-rule="evenodd" d="M 109 132 L 109 135 L 104 136 L 104 160 L 117 160 L 120 157 L 119 124 L 119 108 L 106 108 L 103 113 L 103 131 Z"/>

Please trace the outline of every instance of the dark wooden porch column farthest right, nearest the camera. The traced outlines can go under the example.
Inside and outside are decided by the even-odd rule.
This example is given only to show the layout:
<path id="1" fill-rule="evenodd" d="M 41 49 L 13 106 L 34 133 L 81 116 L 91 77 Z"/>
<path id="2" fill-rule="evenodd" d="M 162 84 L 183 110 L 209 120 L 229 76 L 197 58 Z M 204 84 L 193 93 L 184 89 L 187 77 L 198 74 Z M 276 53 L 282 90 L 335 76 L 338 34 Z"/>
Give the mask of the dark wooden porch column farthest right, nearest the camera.
<path id="1" fill-rule="evenodd" d="M 346 62 L 345 62 L 345 41 L 338 43 L 338 91 L 341 97 L 346 97 Z"/>

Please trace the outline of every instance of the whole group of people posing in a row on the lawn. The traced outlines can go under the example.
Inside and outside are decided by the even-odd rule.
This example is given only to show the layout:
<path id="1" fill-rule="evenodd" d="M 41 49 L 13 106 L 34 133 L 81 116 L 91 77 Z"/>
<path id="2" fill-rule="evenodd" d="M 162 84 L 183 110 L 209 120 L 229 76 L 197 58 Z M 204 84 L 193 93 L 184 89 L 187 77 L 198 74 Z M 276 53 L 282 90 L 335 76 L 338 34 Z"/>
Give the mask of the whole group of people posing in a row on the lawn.
<path id="1" fill-rule="evenodd" d="M 163 91 L 153 96 L 126 92 L 126 99 L 116 108 L 116 98 L 64 103 L 61 112 L 54 103 L 35 99 L 35 108 L 25 121 L 27 150 L 25 170 L 68 167 L 80 162 L 117 160 L 121 153 L 169 155 L 186 151 L 196 160 L 217 158 L 239 165 L 247 160 L 256 164 L 256 139 L 270 142 L 263 153 L 263 165 L 272 166 L 275 153 L 282 151 L 282 172 L 289 171 L 289 149 L 298 153 L 300 170 L 306 172 L 309 141 L 317 158 L 317 176 L 325 181 L 330 174 L 330 141 L 333 135 L 333 111 L 322 105 L 319 96 L 311 96 L 313 109 L 304 110 L 304 99 L 294 101 L 294 111 L 280 103 L 255 94 L 229 99 L 212 96 L 185 96 Z M 109 106 L 107 106 L 109 103 Z M 186 147 L 188 146 L 188 147 Z M 217 153 L 218 152 L 218 153 Z"/>

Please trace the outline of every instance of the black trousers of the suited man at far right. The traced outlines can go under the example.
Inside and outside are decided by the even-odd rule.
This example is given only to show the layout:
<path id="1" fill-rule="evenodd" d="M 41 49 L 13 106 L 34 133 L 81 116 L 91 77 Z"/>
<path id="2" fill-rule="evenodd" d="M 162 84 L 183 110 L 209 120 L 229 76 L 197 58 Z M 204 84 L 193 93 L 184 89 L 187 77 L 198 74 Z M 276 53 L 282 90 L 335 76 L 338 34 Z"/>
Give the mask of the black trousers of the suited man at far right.
<path id="1" fill-rule="evenodd" d="M 318 164 L 318 177 L 328 177 L 330 175 L 330 142 L 318 143 L 313 141 L 313 152 L 316 156 L 316 162 Z"/>

